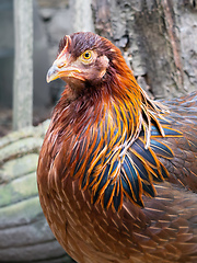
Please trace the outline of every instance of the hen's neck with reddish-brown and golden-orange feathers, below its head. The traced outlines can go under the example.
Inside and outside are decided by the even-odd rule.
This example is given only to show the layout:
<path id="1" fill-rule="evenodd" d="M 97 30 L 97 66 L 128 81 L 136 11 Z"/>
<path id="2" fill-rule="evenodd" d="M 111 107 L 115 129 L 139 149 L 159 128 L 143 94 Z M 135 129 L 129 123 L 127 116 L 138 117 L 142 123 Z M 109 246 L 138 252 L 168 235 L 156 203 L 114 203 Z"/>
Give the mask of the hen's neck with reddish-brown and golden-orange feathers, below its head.
<path id="1" fill-rule="evenodd" d="M 72 89 L 67 87 L 56 106 L 56 118 L 60 119 L 58 122 L 65 127 L 72 124 L 74 134 L 105 122 L 106 118 L 114 118 L 117 125 L 128 126 L 130 142 L 135 141 L 143 129 L 146 146 L 149 147 L 153 122 L 164 136 L 158 121 L 161 106 L 151 101 L 138 85 L 125 60 L 117 61 L 96 89 L 90 88 L 89 92 L 76 98 L 71 96 Z M 109 122 L 108 124 L 111 125 Z"/>

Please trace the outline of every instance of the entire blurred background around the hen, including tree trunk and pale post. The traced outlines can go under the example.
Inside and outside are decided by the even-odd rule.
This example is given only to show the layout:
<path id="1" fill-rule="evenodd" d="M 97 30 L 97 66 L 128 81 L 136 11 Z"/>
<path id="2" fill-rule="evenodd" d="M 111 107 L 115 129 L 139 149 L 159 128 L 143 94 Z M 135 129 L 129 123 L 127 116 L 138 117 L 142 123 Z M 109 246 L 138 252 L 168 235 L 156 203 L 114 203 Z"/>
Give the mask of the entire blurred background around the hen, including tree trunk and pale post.
<path id="1" fill-rule="evenodd" d="M 78 31 L 118 46 L 152 99 L 197 90 L 196 0 L 0 0 L 0 262 L 72 262 L 43 216 L 36 165 L 65 87 L 46 73 Z"/>

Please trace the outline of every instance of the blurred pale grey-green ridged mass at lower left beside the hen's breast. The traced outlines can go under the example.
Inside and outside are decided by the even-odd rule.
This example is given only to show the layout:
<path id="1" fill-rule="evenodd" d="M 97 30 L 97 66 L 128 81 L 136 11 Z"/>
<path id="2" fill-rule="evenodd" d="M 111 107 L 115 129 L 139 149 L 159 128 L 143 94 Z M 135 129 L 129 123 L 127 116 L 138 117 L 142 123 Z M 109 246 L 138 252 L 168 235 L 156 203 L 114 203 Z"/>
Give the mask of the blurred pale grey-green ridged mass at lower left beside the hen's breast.
<path id="1" fill-rule="evenodd" d="M 0 262 L 73 262 L 51 233 L 37 194 L 37 160 L 48 123 L 0 139 Z"/>

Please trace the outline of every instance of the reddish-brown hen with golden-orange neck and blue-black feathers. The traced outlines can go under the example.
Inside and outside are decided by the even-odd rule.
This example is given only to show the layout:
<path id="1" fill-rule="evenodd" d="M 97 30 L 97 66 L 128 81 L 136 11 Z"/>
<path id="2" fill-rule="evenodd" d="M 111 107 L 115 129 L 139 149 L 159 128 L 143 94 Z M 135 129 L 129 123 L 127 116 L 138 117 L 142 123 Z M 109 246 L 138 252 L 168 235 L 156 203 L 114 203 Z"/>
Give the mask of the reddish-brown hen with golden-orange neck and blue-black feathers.
<path id="1" fill-rule="evenodd" d="M 197 93 L 150 100 L 93 33 L 63 37 L 57 78 L 37 182 L 62 248 L 80 263 L 197 262 Z"/>

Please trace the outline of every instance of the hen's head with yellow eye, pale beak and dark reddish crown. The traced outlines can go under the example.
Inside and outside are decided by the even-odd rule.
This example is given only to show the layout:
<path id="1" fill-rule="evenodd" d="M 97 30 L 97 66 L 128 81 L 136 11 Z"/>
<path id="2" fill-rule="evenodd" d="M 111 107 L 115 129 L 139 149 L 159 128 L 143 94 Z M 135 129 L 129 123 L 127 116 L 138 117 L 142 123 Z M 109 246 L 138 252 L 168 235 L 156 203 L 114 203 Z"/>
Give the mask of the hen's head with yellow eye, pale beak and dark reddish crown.
<path id="1" fill-rule="evenodd" d="M 61 78 L 76 94 L 101 89 L 115 76 L 129 75 L 120 50 L 108 39 L 90 32 L 66 35 L 59 44 L 57 59 L 47 73 L 47 82 Z"/>

